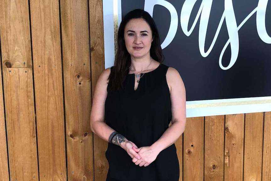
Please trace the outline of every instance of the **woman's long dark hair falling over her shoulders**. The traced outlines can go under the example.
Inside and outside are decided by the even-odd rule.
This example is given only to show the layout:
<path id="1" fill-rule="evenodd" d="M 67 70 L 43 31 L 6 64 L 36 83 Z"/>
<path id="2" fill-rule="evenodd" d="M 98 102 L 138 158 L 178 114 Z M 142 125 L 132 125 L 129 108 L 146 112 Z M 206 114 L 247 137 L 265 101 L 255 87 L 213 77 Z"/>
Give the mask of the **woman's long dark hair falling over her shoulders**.
<path id="1" fill-rule="evenodd" d="M 127 74 L 129 73 L 129 67 L 131 65 L 131 56 L 128 53 L 125 41 L 124 41 L 124 28 L 126 24 L 132 19 L 142 18 L 145 20 L 152 30 L 152 44 L 150 49 L 150 54 L 153 59 L 162 64 L 164 56 L 162 54 L 162 48 L 160 44 L 160 37 L 152 16 L 143 9 L 135 9 L 127 13 L 122 19 L 119 25 L 118 31 L 118 50 L 115 57 L 114 66 L 111 68 L 111 73 L 109 75 L 110 81 L 112 81 L 111 89 L 113 91 L 123 88 L 123 81 L 125 80 Z"/>

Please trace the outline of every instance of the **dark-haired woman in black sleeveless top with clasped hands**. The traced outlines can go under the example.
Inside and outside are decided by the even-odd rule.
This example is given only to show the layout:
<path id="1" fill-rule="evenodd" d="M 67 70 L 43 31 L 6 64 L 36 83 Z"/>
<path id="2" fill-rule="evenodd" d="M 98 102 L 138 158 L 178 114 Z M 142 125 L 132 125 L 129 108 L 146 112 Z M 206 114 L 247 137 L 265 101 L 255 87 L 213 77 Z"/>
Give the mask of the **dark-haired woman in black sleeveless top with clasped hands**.
<path id="1" fill-rule="evenodd" d="M 115 64 L 99 77 L 91 110 L 91 130 L 109 142 L 107 181 L 179 180 L 174 142 L 185 130 L 185 87 L 162 61 L 150 14 L 126 14 Z"/>

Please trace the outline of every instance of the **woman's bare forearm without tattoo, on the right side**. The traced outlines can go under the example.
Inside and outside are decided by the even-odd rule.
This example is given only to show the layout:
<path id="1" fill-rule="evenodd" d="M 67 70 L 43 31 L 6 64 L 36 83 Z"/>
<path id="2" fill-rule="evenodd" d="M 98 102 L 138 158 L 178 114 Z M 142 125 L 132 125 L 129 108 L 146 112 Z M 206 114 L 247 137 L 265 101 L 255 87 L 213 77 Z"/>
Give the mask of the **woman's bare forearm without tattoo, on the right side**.
<path id="1" fill-rule="evenodd" d="M 151 145 L 152 149 L 158 150 L 161 152 L 181 136 L 185 131 L 185 122 L 174 122 L 172 125 L 163 133 L 163 135 Z"/>

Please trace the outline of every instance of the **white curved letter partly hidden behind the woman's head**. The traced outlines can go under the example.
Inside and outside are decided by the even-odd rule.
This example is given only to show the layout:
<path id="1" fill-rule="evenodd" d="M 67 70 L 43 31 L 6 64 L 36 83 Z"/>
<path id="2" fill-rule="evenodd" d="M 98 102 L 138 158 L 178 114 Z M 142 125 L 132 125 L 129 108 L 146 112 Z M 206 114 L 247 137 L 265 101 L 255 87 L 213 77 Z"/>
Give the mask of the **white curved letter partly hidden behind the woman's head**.
<path id="1" fill-rule="evenodd" d="M 161 5 L 169 10 L 171 21 L 169 26 L 169 32 L 164 40 L 164 42 L 161 44 L 162 49 L 166 48 L 174 39 L 177 28 L 178 28 L 178 14 L 174 6 L 164 0 L 145 0 L 144 10 L 147 11 L 151 16 L 153 15 L 153 8 L 155 5 Z"/>

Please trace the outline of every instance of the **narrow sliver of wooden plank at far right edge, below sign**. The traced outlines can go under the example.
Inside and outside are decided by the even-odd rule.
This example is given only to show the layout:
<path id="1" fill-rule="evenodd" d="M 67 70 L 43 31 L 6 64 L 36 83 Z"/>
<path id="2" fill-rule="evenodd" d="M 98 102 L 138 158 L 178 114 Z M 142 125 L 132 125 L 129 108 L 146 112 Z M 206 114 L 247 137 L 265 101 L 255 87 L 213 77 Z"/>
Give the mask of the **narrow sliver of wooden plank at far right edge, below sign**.
<path id="1" fill-rule="evenodd" d="M 271 180 L 271 112 L 264 115 L 263 181 Z"/>

